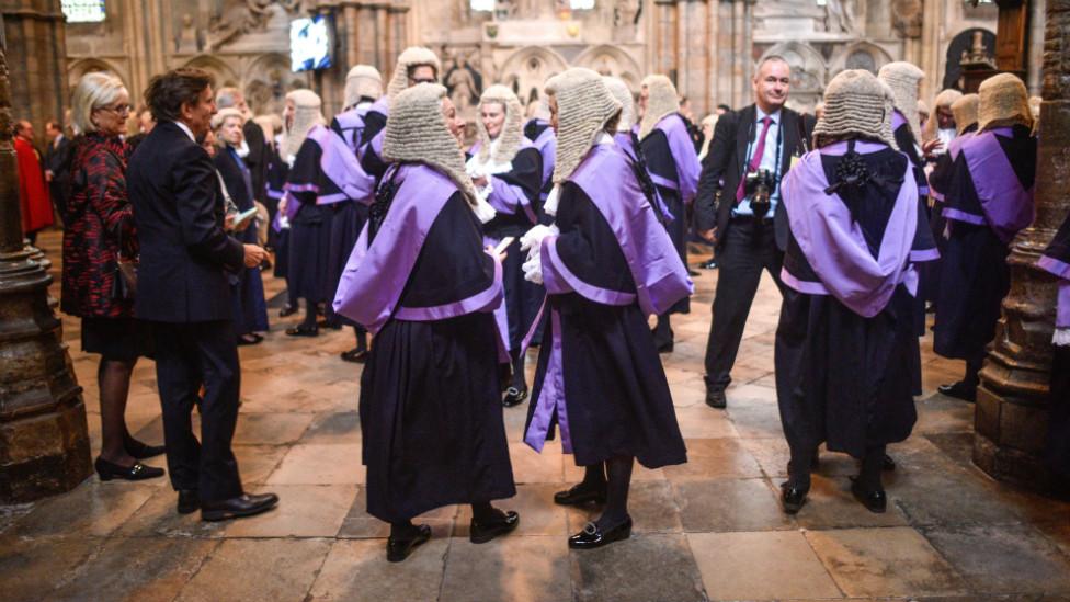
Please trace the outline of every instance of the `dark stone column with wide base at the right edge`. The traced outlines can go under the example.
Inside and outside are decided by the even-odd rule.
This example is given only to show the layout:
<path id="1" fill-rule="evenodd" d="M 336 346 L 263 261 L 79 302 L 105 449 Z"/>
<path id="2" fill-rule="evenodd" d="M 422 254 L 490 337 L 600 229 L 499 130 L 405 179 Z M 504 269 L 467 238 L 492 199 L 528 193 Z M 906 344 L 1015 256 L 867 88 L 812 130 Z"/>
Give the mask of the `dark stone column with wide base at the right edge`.
<path id="1" fill-rule="evenodd" d="M 1012 245 L 1011 293 L 993 349 L 981 371 L 974 463 L 992 477 L 1043 491 L 1066 491 L 1041 463 L 1048 424 L 1048 384 L 1055 318 L 1055 279 L 1036 260 L 1070 211 L 1070 0 L 1047 0 L 1044 104 L 1032 227 Z"/>

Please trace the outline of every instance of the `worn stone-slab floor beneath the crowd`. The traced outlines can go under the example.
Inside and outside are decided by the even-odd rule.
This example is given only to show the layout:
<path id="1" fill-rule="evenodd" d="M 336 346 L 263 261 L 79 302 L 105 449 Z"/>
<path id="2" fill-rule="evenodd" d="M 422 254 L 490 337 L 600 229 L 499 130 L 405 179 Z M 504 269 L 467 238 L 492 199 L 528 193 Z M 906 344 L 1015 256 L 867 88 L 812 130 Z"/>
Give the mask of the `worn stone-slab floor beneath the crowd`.
<path id="1" fill-rule="evenodd" d="M 58 238 L 43 242 L 56 257 Z M 559 446 L 539 455 L 521 443 L 521 407 L 505 410 L 519 493 L 501 502 L 521 513 L 517 532 L 474 546 L 468 510 L 443 508 L 422 518 L 434 538 L 408 561 L 387 564 L 387 530 L 364 510 L 360 367 L 338 360 L 351 334 L 289 339 L 282 330 L 294 318 L 273 310 L 266 341 L 241 349 L 235 447 L 248 489 L 277 492 L 280 507 L 204 524 L 175 513 L 166 479 L 95 477 L 49 500 L 0 507 L 0 600 L 1070 601 L 1070 504 L 970 465 L 972 407 L 934 394 L 960 365 L 935 357 L 929 341 L 919 423 L 891 447 L 899 468 L 887 479 L 888 512 L 855 503 L 855 463 L 826 454 L 810 503 L 785 516 L 777 485 L 787 452 L 772 373 L 778 297 L 763 281 L 729 408 L 712 410 L 702 355 L 716 279 L 696 279 L 693 311 L 675 320 L 676 351 L 663 356 L 690 462 L 637 470 L 627 542 L 569 552 L 566 536 L 589 513 L 550 496 L 581 473 Z M 96 360 L 79 351 L 77 320 L 65 320 L 64 336 L 95 446 Z M 151 362 L 137 367 L 128 420 L 139 438 L 161 442 Z"/>

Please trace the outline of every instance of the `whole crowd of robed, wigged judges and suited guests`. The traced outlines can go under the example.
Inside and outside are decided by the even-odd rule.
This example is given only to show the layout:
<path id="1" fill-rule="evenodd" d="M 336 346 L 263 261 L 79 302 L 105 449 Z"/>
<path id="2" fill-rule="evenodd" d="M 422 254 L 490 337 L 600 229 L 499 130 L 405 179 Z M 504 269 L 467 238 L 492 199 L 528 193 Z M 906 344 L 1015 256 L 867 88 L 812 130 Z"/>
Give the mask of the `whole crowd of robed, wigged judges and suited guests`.
<path id="1" fill-rule="evenodd" d="M 172 70 L 152 79 L 127 138 L 129 92 L 89 73 L 72 95 L 73 139 L 49 126 L 46 169 L 32 172 L 35 151 L 19 147 L 23 179 L 39 180 L 22 189 L 25 231 L 50 222 L 48 184 L 65 227 L 61 309 L 101 355 L 102 479 L 162 476 L 140 461 L 166 453 L 179 512 L 225 520 L 278 503 L 244 492 L 230 447 L 237 345 L 268 331 L 270 266 L 286 281 L 282 315 L 304 302 L 287 336 L 353 329 L 342 360 L 364 363 L 367 510 L 390 524 L 391 561 L 428 541 L 412 519 L 441 506 L 471 504 L 474 543 L 515 529 L 517 513 L 492 502 L 515 493 L 503 408 L 528 398 L 524 442 L 540 452 L 559 436 L 585 469 L 553 501 L 602 507 L 569 546 L 630 535 L 635 462 L 687 461 L 659 353 L 673 351 L 671 316 L 688 311 L 692 236 L 714 247 L 703 266 L 719 269 L 710 408 L 727 407 L 763 272 L 783 297 L 785 512 L 807 502 L 822 444 L 860 461 L 851 491 L 885 511 L 888 445 L 917 421 L 927 311 L 936 353 L 966 365 L 940 391 L 976 399 L 1010 243 L 1034 218 L 1036 116 L 1014 76 L 945 90 L 925 118 L 915 66 L 845 70 L 809 115 L 786 105 L 790 67 L 771 56 L 752 104 L 696 126 L 665 76 L 636 96 L 571 68 L 527 110 L 488 87 L 466 148 L 441 75 L 433 52 L 411 47 L 385 90 L 377 69 L 354 67 L 331 120 L 308 89 L 286 94 L 281 118 L 254 118 L 239 90 Z M 1062 279 L 1056 370 L 1067 373 L 1070 225 L 1040 265 Z M 124 421 L 143 356 L 156 362 L 164 446 Z M 1056 376 L 1048 459 L 1070 474 L 1070 382 Z"/>

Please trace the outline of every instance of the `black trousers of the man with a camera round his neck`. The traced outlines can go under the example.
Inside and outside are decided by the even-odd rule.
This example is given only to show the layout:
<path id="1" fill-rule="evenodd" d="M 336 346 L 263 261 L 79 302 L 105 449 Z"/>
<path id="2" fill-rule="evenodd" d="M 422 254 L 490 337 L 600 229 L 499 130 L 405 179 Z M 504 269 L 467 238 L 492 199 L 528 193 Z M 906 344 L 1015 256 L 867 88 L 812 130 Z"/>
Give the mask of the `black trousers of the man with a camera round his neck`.
<path id="1" fill-rule="evenodd" d="M 717 293 L 706 342 L 707 388 L 724 390 L 731 383 L 732 365 L 762 270 L 769 270 L 779 288 L 783 263 L 784 252 L 776 248 L 772 219 L 732 218 L 717 252 Z"/>

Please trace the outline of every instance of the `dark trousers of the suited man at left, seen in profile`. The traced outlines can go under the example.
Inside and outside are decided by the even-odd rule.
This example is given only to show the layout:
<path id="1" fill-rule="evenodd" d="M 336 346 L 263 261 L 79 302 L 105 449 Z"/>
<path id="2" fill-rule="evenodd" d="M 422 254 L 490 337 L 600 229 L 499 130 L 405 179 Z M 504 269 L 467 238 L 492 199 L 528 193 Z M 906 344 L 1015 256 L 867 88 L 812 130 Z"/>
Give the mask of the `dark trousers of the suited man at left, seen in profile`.
<path id="1" fill-rule="evenodd" d="M 241 366 L 230 320 L 153 325 L 156 378 L 163 411 L 168 472 L 175 489 L 197 489 L 203 501 L 242 493 L 230 448 L 238 422 Z M 204 398 L 200 397 L 204 385 Z M 201 406 L 201 441 L 193 407 Z"/>

